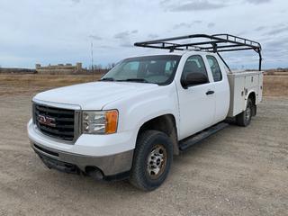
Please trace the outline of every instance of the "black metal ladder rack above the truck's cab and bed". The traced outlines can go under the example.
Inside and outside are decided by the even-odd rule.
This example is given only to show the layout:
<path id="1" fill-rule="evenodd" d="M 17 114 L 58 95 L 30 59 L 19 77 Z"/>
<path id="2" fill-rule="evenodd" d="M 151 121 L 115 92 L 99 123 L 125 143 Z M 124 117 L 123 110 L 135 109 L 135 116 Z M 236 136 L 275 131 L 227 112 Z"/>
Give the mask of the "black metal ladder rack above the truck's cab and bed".
<path id="1" fill-rule="evenodd" d="M 175 40 L 182 40 L 182 43 L 175 43 Z M 187 40 L 189 40 L 189 42 L 187 42 Z M 170 51 L 193 49 L 215 52 L 228 68 L 229 66 L 220 56 L 219 52 L 252 49 L 259 55 L 259 70 L 261 70 L 262 64 L 261 45 L 259 42 L 230 34 L 190 34 L 175 38 L 136 42 L 134 43 L 134 46 L 154 49 L 169 49 Z"/>

